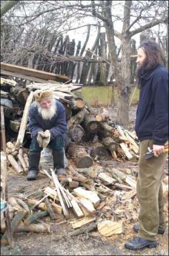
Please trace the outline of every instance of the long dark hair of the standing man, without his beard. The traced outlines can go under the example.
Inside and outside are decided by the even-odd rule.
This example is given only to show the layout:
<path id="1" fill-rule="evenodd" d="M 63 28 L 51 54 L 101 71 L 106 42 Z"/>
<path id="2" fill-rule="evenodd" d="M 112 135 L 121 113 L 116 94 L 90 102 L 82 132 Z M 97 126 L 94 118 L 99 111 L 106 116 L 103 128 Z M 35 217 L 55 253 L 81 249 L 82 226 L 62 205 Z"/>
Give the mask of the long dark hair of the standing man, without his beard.
<path id="1" fill-rule="evenodd" d="M 147 57 L 145 70 L 153 69 L 159 63 L 166 64 L 161 47 L 155 41 L 145 41 L 139 48 L 142 48 Z"/>

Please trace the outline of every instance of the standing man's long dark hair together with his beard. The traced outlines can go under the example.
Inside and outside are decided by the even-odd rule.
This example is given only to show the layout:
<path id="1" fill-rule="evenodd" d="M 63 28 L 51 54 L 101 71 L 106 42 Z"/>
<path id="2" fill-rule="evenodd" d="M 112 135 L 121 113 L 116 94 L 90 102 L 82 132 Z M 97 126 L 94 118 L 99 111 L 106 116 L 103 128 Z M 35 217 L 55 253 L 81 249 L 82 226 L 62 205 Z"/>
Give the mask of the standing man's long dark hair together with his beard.
<path id="1" fill-rule="evenodd" d="M 148 70 L 152 70 L 157 64 L 162 63 L 166 65 L 161 47 L 155 41 L 144 41 L 140 44 L 139 48 L 144 50 L 146 60 L 141 67 L 136 70 L 136 84 L 141 88 L 141 76 Z"/>

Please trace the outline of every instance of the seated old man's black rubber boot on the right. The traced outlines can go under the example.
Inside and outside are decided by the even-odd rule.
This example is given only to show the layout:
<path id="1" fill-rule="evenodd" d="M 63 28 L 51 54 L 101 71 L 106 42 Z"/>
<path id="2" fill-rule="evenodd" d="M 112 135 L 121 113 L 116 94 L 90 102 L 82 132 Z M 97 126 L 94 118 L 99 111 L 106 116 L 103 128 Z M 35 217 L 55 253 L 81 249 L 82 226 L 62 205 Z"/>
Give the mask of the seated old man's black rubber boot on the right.
<path id="1" fill-rule="evenodd" d="M 52 155 L 54 158 L 54 170 L 56 174 L 59 175 L 64 175 L 66 176 L 66 172 L 64 169 L 64 151 L 63 150 L 53 150 Z"/>

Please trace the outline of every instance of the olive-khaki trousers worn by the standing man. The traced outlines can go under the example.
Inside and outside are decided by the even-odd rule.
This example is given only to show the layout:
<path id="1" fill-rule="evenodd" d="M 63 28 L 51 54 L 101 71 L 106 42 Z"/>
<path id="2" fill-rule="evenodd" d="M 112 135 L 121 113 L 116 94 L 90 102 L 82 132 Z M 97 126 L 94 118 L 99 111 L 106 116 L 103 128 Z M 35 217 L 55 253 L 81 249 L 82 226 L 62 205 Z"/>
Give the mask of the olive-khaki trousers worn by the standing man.
<path id="1" fill-rule="evenodd" d="M 155 241 L 158 229 L 165 229 L 163 215 L 162 177 L 167 153 L 146 160 L 148 147 L 153 147 L 153 140 L 140 142 L 139 177 L 137 181 L 137 198 L 140 204 L 139 233 L 144 239 Z"/>

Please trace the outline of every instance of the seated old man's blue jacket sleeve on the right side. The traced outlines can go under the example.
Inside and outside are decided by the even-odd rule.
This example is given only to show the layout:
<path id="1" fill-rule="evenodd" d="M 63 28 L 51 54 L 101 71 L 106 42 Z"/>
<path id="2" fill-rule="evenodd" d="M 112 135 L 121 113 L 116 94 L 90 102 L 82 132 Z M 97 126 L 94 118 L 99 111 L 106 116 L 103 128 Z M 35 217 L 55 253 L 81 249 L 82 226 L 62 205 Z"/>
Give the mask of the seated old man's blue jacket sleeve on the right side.
<path id="1" fill-rule="evenodd" d="M 66 131 L 66 114 L 65 114 L 65 108 L 62 104 L 59 105 L 57 108 L 58 110 L 58 116 L 57 120 L 55 122 L 55 126 L 50 129 L 51 133 L 51 140 L 56 139 L 57 136 L 63 135 Z"/>

